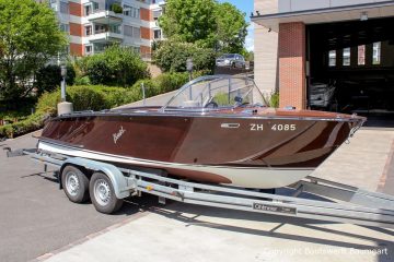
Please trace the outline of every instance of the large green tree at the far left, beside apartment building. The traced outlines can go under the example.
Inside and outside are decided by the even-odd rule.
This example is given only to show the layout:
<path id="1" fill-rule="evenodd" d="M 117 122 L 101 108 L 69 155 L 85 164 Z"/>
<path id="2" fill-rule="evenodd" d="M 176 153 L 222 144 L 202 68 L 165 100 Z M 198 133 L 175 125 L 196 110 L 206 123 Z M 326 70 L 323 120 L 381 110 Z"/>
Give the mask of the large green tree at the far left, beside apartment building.
<path id="1" fill-rule="evenodd" d="M 0 98 L 27 96 L 36 72 L 66 45 L 47 4 L 0 0 Z"/>

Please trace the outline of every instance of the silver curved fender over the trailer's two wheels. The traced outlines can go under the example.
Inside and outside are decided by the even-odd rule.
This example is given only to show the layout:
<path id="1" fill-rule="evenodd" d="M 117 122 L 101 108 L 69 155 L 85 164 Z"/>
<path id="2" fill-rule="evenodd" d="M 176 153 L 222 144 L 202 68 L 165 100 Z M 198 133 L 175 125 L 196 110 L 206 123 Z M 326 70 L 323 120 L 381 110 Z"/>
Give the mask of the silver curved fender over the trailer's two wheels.
<path id="1" fill-rule="evenodd" d="M 61 179 L 61 171 L 67 165 L 80 166 L 93 171 L 102 171 L 111 179 L 113 183 L 115 195 L 118 199 L 125 199 L 130 195 L 130 190 L 127 187 L 127 179 L 123 172 L 114 165 L 106 164 L 103 162 L 91 160 L 81 157 L 72 157 L 61 165 L 59 181 Z M 60 181 L 61 184 L 61 181 Z"/>

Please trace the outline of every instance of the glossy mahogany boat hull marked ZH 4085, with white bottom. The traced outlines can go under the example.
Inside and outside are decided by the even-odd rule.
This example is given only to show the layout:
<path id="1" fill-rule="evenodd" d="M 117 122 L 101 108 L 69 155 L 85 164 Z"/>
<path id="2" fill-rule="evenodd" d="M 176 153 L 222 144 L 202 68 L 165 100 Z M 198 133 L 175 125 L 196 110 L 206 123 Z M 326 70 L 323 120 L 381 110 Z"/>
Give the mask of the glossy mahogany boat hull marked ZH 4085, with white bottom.
<path id="1" fill-rule="evenodd" d="M 312 172 L 360 119 L 111 112 L 47 122 L 40 148 L 165 169 L 196 181 L 274 188 Z"/>

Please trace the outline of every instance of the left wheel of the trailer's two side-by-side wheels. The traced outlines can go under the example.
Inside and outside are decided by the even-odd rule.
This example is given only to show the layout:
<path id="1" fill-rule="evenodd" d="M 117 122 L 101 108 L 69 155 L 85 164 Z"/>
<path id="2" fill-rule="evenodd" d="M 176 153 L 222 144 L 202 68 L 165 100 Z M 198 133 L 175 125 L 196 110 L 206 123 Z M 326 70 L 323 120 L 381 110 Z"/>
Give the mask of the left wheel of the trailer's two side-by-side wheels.
<path id="1" fill-rule="evenodd" d="M 61 171 L 61 186 L 67 198 L 74 203 L 89 200 L 89 179 L 74 166 L 66 166 Z"/>

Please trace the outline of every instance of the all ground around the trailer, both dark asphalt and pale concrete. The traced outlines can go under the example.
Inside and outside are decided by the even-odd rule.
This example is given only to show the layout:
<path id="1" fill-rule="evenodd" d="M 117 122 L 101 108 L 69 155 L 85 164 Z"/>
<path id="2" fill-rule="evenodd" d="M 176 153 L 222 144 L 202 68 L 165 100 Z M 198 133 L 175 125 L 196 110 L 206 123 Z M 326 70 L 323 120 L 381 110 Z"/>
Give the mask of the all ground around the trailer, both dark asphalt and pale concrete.
<path id="1" fill-rule="evenodd" d="M 0 147 L 34 143 L 24 136 Z M 394 194 L 393 150 L 394 131 L 360 130 L 314 175 Z M 389 229 L 179 203 L 152 206 L 153 198 L 102 215 L 91 204 L 69 202 L 42 166 L 2 153 L 0 198 L 0 261 L 43 254 L 48 261 L 84 262 L 394 261 L 394 230 Z"/>

